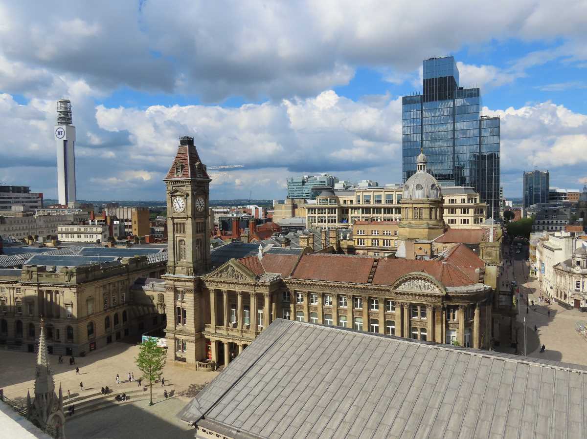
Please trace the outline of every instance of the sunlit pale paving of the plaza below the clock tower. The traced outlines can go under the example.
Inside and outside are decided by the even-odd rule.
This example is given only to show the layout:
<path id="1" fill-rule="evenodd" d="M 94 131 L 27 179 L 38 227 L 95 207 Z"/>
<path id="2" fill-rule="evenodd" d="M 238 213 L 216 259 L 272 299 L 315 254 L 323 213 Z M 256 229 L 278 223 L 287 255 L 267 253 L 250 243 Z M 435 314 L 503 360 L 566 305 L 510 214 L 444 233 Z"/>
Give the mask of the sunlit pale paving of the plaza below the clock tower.
<path id="1" fill-rule="evenodd" d="M 59 364 L 58 356 L 49 355 L 55 391 L 59 392 L 59 384 L 61 384 L 63 399 L 66 401 L 68 390 L 72 398 L 78 394 L 95 393 L 96 389 L 99 391 L 102 386 L 108 386 L 114 394 L 136 390 L 139 387 L 138 383 L 129 382 L 128 375 L 129 372 L 134 373 L 135 380 L 140 376 L 140 371 L 134 363 L 138 353 L 138 345 L 112 343 L 106 348 L 90 352 L 85 357 L 76 357 L 76 364 L 72 366 L 69 365 L 69 358 L 63 358 L 63 364 Z M 35 365 L 36 356 L 33 353 L 12 351 L 0 353 L 0 370 L 2 370 L 0 389 L 4 389 L 6 397 L 26 405 L 26 392 L 29 390 L 33 394 L 35 386 Z M 79 367 L 80 375 L 76 375 L 76 366 Z M 116 384 L 116 374 L 120 376 L 120 384 Z M 153 401 L 164 400 L 163 390 L 166 389 L 167 392 L 175 390 L 177 400 L 185 405 L 217 375 L 218 372 L 195 372 L 183 367 L 165 366 L 163 377 L 166 385 L 165 387 L 161 386 L 161 383 L 153 385 Z M 80 382 L 83 383 L 83 389 L 80 389 Z M 141 384 L 144 386 L 144 380 Z M 108 411 L 111 410 L 103 410 L 103 412 Z M 89 420 L 93 416 L 95 416 L 94 413 L 80 419 Z"/>

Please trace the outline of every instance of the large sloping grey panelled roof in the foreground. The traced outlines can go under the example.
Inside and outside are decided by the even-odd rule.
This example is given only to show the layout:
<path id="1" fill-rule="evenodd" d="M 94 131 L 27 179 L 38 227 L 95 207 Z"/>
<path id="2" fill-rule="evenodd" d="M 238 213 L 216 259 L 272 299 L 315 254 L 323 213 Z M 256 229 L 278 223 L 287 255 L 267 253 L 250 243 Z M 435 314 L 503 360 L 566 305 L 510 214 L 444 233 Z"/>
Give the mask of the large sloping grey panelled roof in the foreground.
<path id="1" fill-rule="evenodd" d="M 581 438 L 586 370 L 277 319 L 178 416 L 233 438 Z"/>

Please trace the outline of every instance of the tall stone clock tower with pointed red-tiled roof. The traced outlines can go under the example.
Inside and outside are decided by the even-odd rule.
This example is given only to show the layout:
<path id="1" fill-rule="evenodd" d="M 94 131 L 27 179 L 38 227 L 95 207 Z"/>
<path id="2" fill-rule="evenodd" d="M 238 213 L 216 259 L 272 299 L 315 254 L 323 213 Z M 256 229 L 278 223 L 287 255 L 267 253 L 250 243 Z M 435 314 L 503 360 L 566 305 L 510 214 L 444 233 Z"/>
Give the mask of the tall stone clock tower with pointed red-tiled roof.
<path id="1" fill-rule="evenodd" d="M 176 157 L 163 180 L 167 186 L 165 309 L 167 361 L 191 368 L 205 356 L 202 284 L 210 268 L 210 177 L 194 147 L 180 138 Z"/>

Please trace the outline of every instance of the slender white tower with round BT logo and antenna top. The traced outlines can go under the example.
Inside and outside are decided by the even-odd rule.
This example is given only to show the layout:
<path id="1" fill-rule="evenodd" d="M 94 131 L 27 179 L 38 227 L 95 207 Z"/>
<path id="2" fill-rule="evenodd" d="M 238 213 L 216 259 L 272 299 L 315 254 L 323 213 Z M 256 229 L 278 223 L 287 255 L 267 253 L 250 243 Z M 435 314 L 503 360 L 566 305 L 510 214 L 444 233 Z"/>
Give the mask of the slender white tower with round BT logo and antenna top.
<path id="1" fill-rule="evenodd" d="M 75 127 L 72 125 L 72 104 L 67 99 L 57 101 L 57 189 L 59 204 L 75 202 Z"/>

